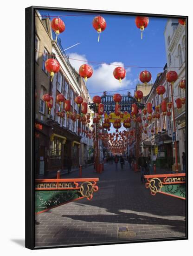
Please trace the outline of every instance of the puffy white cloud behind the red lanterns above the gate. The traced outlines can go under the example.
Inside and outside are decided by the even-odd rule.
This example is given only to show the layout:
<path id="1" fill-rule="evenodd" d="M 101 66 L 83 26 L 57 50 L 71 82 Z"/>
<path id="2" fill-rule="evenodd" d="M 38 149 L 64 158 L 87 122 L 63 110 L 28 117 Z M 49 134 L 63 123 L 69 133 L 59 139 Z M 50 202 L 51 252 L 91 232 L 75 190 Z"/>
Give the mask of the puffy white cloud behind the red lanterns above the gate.
<path id="1" fill-rule="evenodd" d="M 75 67 L 77 71 L 82 64 L 85 64 L 85 63 L 88 64 L 88 61 L 85 55 L 71 53 L 69 54 L 69 58 L 70 58 L 71 65 Z M 83 62 L 76 61 L 73 59 L 83 60 Z M 130 67 L 126 68 L 126 73 L 127 73 L 126 77 L 120 83 L 117 79 L 115 79 L 113 75 L 113 71 L 116 67 L 124 66 L 124 64 L 122 62 L 112 62 L 110 64 L 111 65 L 99 64 L 94 67 L 92 66 L 93 74 L 87 82 L 88 88 L 92 89 L 92 91 L 96 88 L 97 88 L 97 91 L 98 90 L 113 91 L 113 90 L 119 90 L 122 88 L 129 88 L 131 87 L 131 85 L 133 85 L 133 81 L 131 81 L 130 79 L 127 79 L 127 75 L 131 74 Z"/>

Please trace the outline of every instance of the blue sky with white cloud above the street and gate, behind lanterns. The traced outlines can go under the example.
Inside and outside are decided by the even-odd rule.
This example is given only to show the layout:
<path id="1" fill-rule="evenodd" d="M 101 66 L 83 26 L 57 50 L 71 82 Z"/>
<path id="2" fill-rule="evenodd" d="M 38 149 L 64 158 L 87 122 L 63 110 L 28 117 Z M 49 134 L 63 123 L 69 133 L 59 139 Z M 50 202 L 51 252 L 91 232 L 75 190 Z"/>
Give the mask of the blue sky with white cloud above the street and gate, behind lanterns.
<path id="1" fill-rule="evenodd" d="M 39 12 L 50 16 L 83 14 L 50 10 L 40 10 Z M 146 68 L 152 74 L 153 81 L 155 81 L 156 75 L 163 71 L 166 63 L 163 33 L 167 19 L 150 17 L 148 27 L 145 28 L 143 39 L 141 40 L 141 32 L 135 25 L 135 16 L 101 14 L 106 20 L 107 27 L 101 33 L 100 42 L 98 43 L 98 34 L 92 26 L 92 20 L 95 16 L 96 14 L 60 17 L 65 23 L 65 31 L 59 35 L 63 48 L 80 43 L 78 46 L 67 50 L 66 54 L 70 58 L 77 57 L 77 59 L 81 58 L 81 60 L 87 61 L 115 62 L 118 65 L 142 67 L 162 67 L 158 69 Z M 71 64 L 75 68 L 84 63 L 71 60 Z M 138 74 L 145 69 L 125 67 L 127 75 L 120 85 L 118 80 L 113 77 L 114 66 L 88 64 L 93 67 L 93 76 L 87 82 L 91 97 L 95 95 L 95 92 L 103 92 L 104 90 L 125 89 L 120 93 L 124 94 L 127 90 L 133 93 Z"/>

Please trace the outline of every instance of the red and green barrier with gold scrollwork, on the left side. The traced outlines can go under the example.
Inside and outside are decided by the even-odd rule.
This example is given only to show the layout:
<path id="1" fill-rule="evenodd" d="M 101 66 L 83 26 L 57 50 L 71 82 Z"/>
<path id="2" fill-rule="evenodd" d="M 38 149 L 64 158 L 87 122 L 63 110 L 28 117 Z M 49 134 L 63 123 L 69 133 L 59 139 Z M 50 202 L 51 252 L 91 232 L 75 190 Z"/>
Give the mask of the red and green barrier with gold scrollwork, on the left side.
<path id="1" fill-rule="evenodd" d="M 35 180 L 35 213 L 83 198 L 91 200 L 98 190 L 98 181 L 98 178 Z"/>

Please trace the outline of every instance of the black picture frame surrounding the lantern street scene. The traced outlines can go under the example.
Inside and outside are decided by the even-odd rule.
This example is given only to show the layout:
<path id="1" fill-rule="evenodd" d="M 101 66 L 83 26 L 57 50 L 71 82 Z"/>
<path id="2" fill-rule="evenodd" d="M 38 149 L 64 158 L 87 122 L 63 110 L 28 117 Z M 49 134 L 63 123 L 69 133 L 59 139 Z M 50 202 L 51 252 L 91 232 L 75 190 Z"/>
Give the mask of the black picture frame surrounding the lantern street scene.
<path id="1" fill-rule="evenodd" d="M 72 247 L 69 246 L 45 246 L 45 247 L 35 247 L 35 214 L 34 214 L 34 120 L 35 120 L 35 111 L 34 111 L 34 27 L 35 19 L 34 13 L 36 9 L 44 10 L 56 10 L 56 11 L 68 11 L 68 12 L 84 12 L 84 13 L 104 13 L 112 15 L 132 15 L 132 16 L 148 16 L 148 17 L 165 17 L 165 18 L 180 18 L 186 19 L 186 81 L 188 85 L 188 16 L 177 16 L 177 15 L 164 15 L 164 14 L 151 14 L 151 13 L 129 13 L 129 12 L 112 12 L 112 11 L 101 11 L 101 10 L 85 10 L 85 9 L 74 9 L 74 8 L 58 8 L 58 7 L 27 7 L 26 8 L 26 248 L 28 249 L 48 249 L 48 248 L 65 248 Z M 186 89 L 186 95 L 188 95 L 188 86 Z M 186 98 L 186 157 L 188 159 L 188 98 Z M 187 161 L 188 169 L 188 161 Z M 188 172 L 186 174 L 186 236 L 185 237 L 176 237 L 176 238 L 161 238 L 161 239 L 152 239 L 151 242 L 156 241 L 172 241 L 172 240 L 186 240 L 188 239 Z M 103 243 L 103 244 L 121 244 L 121 243 L 142 243 L 149 242 L 149 240 L 140 240 L 140 241 L 120 241 L 112 243 Z M 79 244 L 73 245 L 77 246 L 93 246 L 101 245 L 98 244 Z"/>

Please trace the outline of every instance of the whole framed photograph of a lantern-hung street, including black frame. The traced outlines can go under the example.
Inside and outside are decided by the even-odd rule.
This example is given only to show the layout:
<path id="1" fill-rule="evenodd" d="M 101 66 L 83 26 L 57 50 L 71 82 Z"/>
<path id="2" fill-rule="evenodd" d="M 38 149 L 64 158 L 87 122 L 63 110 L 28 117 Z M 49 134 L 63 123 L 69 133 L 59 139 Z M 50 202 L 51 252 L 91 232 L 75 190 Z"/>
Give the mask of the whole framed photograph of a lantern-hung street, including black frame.
<path id="1" fill-rule="evenodd" d="M 26 8 L 26 248 L 188 238 L 187 31 Z"/>

